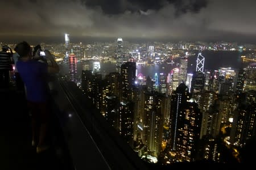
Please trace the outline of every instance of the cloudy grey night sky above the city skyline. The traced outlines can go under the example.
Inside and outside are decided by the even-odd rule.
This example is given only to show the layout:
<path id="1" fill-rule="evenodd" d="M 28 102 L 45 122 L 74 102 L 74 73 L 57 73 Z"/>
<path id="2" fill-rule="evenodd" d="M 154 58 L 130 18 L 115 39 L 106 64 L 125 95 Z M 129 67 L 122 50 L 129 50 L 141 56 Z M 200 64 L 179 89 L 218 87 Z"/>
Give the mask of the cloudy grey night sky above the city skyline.
<path id="1" fill-rule="evenodd" d="M 0 41 L 74 37 L 256 41 L 255 0 L 10 0 Z"/>

